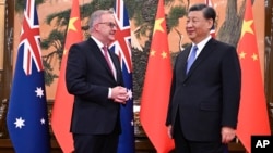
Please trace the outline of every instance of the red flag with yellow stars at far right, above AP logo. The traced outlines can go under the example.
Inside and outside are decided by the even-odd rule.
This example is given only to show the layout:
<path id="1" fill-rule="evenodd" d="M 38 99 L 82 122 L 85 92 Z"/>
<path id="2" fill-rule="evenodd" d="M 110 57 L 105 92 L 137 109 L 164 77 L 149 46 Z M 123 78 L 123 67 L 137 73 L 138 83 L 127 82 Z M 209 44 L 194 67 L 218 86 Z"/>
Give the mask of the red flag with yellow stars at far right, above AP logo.
<path id="1" fill-rule="evenodd" d="M 237 137 L 250 152 L 251 136 L 271 133 L 250 0 L 246 3 L 238 55 L 242 85 Z"/>

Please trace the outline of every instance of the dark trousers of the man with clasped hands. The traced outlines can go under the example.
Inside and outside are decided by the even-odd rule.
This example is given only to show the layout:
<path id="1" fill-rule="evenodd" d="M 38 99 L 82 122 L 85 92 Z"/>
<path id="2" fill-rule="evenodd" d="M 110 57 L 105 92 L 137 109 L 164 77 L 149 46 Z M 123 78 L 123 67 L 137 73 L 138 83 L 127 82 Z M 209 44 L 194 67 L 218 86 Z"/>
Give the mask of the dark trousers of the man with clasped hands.
<path id="1" fill-rule="evenodd" d="M 119 133 L 79 135 L 73 133 L 74 153 L 117 153 Z"/>

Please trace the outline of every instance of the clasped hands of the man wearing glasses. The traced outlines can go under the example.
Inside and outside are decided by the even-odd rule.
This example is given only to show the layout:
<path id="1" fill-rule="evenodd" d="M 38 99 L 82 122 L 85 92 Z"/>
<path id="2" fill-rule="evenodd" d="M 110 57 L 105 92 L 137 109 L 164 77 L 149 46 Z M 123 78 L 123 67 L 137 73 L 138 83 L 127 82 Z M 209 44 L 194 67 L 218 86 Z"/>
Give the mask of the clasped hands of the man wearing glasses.
<path id="1" fill-rule="evenodd" d="M 129 93 L 124 87 L 117 86 L 111 88 L 111 98 L 115 102 L 126 104 L 126 102 L 129 100 Z"/>

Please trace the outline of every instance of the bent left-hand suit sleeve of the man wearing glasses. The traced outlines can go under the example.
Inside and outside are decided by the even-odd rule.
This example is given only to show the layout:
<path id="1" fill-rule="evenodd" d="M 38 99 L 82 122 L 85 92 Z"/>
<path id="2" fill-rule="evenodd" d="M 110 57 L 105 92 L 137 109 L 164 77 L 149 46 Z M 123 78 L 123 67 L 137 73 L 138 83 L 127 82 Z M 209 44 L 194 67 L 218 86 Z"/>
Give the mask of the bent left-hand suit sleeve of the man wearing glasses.
<path id="1" fill-rule="evenodd" d="M 88 69 L 87 54 L 83 48 L 79 44 L 70 48 L 66 71 L 67 89 L 69 93 L 85 100 L 106 101 L 109 87 L 87 80 L 92 72 Z"/>

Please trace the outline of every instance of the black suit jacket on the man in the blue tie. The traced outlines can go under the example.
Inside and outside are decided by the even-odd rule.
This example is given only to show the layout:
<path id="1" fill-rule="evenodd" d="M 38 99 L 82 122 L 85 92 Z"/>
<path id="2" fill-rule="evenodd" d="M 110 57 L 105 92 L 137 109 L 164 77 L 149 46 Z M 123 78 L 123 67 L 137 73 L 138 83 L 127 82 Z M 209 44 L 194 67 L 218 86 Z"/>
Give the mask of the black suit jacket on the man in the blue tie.
<path id="1" fill-rule="evenodd" d="M 221 140 L 221 128 L 236 128 L 241 73 L 236 49 L 211 39 L 186 75 L 188 47 L 176 59 L 166 125 L 177 115 L 185 137 Z"/>

